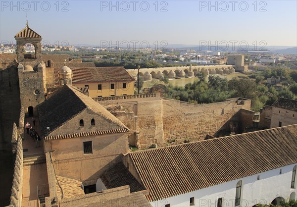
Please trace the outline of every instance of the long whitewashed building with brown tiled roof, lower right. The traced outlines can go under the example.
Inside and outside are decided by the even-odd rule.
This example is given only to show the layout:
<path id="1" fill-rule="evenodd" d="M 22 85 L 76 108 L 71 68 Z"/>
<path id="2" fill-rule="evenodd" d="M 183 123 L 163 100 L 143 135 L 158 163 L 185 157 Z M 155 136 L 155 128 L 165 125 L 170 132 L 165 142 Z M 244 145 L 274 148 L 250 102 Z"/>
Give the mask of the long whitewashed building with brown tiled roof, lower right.
<path id="1" fill-rule="evenodd" d="M 153 207 L 253 207 L 296 199 L 297 124 L 123 158 Z"/>

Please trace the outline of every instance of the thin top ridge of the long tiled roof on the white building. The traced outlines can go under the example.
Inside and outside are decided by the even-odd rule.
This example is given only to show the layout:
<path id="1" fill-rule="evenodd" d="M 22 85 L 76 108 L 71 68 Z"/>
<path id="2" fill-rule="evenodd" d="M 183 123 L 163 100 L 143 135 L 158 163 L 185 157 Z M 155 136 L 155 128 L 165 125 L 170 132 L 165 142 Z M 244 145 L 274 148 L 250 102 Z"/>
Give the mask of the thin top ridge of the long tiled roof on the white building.
<path id="1" fill-rule="evenodd" d="M 286 127 L 294 126 L 294 125 L 296 125 L 296 127 L 297 127 L 297 124 L 291 124 L 291 125 L 287 125 L 287 126 L 263 129 L 263 130 L 258 130 L 258 131 L 254 131 L 254 132 L 246 132 L 246 133 L 242 133 L 242 134 L 229 135 L 229 136 L 225 136 L 225 137 L 216 137 L 216 138 L 208 139 L 208 140 L 200 140 L 200 141 L 194 141 L 194 142 L 189 142 L 189 143 L 182 143 L 182 144 L 178 144 L 178 145 L 171 145 L 171 146 L 165 146 L 165 147 L 160 147 L 160 148 L 152 148 L 152 149 L 146 149 L 146 150 L 141 150 L 141 151 L 129 152 L 129 154 L 137 154 L 137 153 L 142 153 L 145 151 L 153 151 L 153 150 L 159 150 L 159 149 L 175 148 L 175 147 L 179 147 L 181 145 L 191 145 L 191 144 L 195 144 L 195 143 L 199 143 L 199 142 L 210 142 L 213 140 L 226 139 L 229 137 L 235 137 L 235 136 L 239 136 L 239 135 L 257 134 L 257 132 L 264 132 L 264 131 L 275 130 L 275 129 L 279 129 L 279 128 L 286 128 Z"/>

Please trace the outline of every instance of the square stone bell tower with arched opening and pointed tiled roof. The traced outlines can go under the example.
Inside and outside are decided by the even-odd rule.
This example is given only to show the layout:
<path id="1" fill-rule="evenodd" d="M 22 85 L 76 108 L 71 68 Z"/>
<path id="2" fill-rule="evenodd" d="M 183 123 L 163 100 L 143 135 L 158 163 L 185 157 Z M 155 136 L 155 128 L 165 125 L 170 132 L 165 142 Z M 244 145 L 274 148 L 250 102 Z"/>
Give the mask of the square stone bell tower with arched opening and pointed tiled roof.
<path id="1" fill-rule="evenodd" d="M 17 69 L 20 87 L 21 105 L 27 115 L 33 116 L 36 106 L 45 101 L 46 64 L 42 61 L 42 37 L 27 26 L 14 36 L 17 45 Z M 24 52 L 24 45 L 30 43 L 35 48 L 35 54 Z"/>

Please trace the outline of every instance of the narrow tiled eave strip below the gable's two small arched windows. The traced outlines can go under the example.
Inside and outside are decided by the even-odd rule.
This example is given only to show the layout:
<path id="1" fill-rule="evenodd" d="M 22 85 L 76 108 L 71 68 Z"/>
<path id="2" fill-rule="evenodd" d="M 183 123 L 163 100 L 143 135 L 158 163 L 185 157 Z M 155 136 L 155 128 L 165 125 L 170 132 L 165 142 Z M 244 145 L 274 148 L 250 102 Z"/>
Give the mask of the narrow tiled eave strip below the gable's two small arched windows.
<path id="1" fill-rule="evenodd" d="M 128 129 L 110 129 L 110 130 L 97 130 L 92 132 L 79 132 L 73 134 L 65 134 L 65 135 L 53 135 L 45 137 L 45 140 L 58 140 L 58 139 L 70 139 L 70 138 L 77 138 L 77 137 L 87 137 L 87 136 L 94 136 L 94 135 L 103 135 L 103 134 L 114 134 L 114 133 L 122 133 L 128 132 Z"/>

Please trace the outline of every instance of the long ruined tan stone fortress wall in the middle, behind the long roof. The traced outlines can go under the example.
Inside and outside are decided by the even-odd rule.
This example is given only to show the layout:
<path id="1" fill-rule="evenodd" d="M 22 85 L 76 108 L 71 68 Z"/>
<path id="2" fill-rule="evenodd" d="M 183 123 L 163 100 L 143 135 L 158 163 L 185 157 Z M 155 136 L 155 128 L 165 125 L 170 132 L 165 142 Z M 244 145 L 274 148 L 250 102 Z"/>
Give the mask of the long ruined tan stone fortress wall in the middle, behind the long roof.
<path id="1" fill-rule="evenodd" d="M 206 135 L 217 136 L 219 130 L 252 127 L 253 111 L 250 100 L 228 99 L 213 104 L 191 104 L 160 97 L 134 100 L 114 99 L 99 101 L 129 129 L 129 144 L 148 148 L 153 144 L 165 146 L 171 140 L 198 141 Z M 244 125 L 241 119 L 249 120 Z"/>

